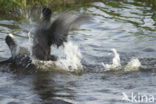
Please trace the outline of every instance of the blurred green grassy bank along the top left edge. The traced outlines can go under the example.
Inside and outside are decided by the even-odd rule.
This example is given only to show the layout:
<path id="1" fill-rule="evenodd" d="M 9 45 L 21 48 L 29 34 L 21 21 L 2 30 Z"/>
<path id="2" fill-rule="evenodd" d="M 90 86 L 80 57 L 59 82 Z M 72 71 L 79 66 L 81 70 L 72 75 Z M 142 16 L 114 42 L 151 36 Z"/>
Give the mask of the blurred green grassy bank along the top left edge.
<path id="1" fill-rule="evenodd" d="M 0 19 L 16 19 L 36 16 L 43 7 L 49 7 L 53 12 L 65 10 L 87 10 L 93 2 L 100 0 L 0 0 Z"/>

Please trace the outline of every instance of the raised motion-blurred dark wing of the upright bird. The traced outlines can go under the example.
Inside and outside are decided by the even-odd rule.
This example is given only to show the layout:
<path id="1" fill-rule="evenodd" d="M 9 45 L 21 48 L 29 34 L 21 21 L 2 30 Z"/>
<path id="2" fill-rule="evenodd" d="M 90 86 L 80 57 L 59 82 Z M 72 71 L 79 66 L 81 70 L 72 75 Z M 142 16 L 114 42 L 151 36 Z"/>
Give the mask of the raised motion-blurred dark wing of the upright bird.
<path id="1" fill-rule="evenodd" d="M 50 26 L 51 44 L 56 44 L 58 47 L 67 41 L 68 32 L 77 29 L 80 24 L 90 19 L 90 16 L 85 14 L 63 13 Z"/>

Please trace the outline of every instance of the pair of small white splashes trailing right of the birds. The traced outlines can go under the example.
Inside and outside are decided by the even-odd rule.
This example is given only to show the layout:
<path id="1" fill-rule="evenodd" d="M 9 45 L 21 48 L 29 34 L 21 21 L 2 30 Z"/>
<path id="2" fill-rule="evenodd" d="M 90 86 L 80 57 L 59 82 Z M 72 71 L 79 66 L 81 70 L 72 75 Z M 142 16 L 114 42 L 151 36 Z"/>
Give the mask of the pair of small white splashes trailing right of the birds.
<path id="1" fill-rule="evenodd" d="M 139 71 L 139 67 L 141 66 L 139 59 L 132 58 L 126 66 L 122 66 L 120 64 L 119 53 L 117 53 L 116 49 L 111 49 L 111 50 L 114 53 L 114 58 L 112 59 L 112 64 L 102 63 L 104 67 L 104 71 L 117 71 L 117 70 L 124 70 L 125 72 Z"/>

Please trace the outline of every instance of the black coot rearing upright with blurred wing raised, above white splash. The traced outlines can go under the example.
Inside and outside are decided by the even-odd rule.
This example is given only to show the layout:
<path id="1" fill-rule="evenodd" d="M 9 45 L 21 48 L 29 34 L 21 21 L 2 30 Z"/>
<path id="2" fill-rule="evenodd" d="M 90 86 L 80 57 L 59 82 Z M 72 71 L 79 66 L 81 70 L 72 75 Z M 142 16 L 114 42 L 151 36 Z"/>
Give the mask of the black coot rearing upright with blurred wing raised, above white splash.
<path id="1" fill-rule="evenodd" d="M 56 60 L 55 56 L 50 55 L 51 45 L 57 47 L 67 42 L 68 32 L 76 29 L 81 23 L 90 19 L 89 16 L 76 13 L 62 13 L 53 23 L 50 23 L 51 10 L 42 10 L 42 21 L 36 28 L 33 35 L 32 56 L 39 60 Z"/>

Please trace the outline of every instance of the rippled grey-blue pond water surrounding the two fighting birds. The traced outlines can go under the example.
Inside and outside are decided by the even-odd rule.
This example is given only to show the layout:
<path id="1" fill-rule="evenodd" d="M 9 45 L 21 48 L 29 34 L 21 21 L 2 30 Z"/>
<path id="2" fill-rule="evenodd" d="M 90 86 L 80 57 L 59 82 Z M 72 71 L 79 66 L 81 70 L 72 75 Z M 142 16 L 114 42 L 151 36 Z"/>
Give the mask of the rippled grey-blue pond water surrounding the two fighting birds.
<path id="1" fill-rule="evenodd" d="M 155 104 L 155 7 L 146 0 L 97 0 L 62 10 L 52 8 L 52 20 L 65 10 L 92 16 L 70 34 L 66 50 L 52 48 L 54 54 L 62 56 L 62 51 L 67 51 L 69 60 L 74 58 L 72 62 L 62 61 L 65 65 L 81 62 L 83 70 L 53 72 L 50 67 L 33 74 L 1 71 L 0 103 Z M 4 41 L 9 33 L 15 35 L 18 44 L 30 47 L 28 33 L 39 22 L 40 11 L 23 11 L 22 17 L 0 16 L 0 57 L 11 56 Z"/>

